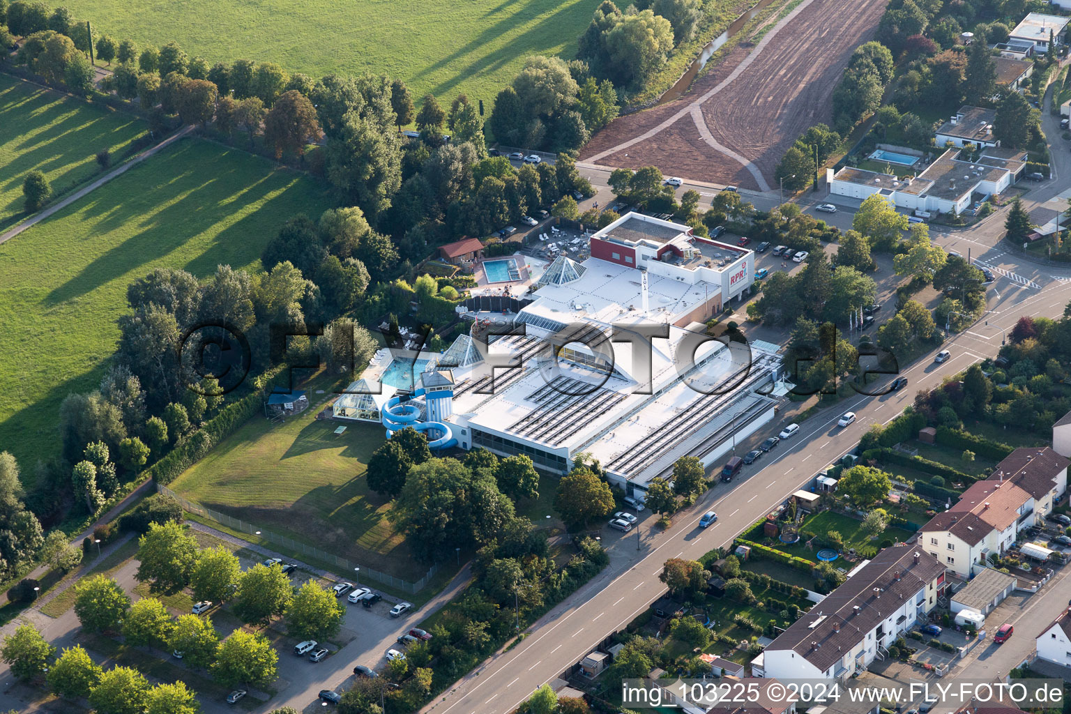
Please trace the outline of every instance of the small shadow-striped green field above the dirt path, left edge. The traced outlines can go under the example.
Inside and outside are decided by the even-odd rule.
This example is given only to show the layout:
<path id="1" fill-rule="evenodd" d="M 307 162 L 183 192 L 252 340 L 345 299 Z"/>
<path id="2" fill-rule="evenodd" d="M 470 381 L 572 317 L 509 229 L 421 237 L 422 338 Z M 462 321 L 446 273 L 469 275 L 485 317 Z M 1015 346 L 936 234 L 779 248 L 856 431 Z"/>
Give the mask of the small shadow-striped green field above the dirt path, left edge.
<path id="1" fill-rule="evenodd" d="M 96 152 L 117 164 L 145 136 L 146 122 L 0 75 L 0 230 L 25 217 L 22 181 L 37 169 L 54 194 L 97 174 Z"/>

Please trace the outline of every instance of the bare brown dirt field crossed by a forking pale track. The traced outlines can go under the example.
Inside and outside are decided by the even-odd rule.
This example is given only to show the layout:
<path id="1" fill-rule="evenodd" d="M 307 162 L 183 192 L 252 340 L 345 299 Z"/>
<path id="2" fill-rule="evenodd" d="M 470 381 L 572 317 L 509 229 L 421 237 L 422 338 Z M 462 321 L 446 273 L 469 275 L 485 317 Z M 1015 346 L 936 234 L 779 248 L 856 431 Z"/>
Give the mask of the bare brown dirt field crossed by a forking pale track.
<path id="1" fill-rule="evenodd" d="M 884 9 L 884 0 L 804 0 L 758 43 L 742 41 L 681 98 L 612 122 L 580 161 L 776 187 L 778 162 L 809 126 L 830 121 L 833 87 Z"/>

